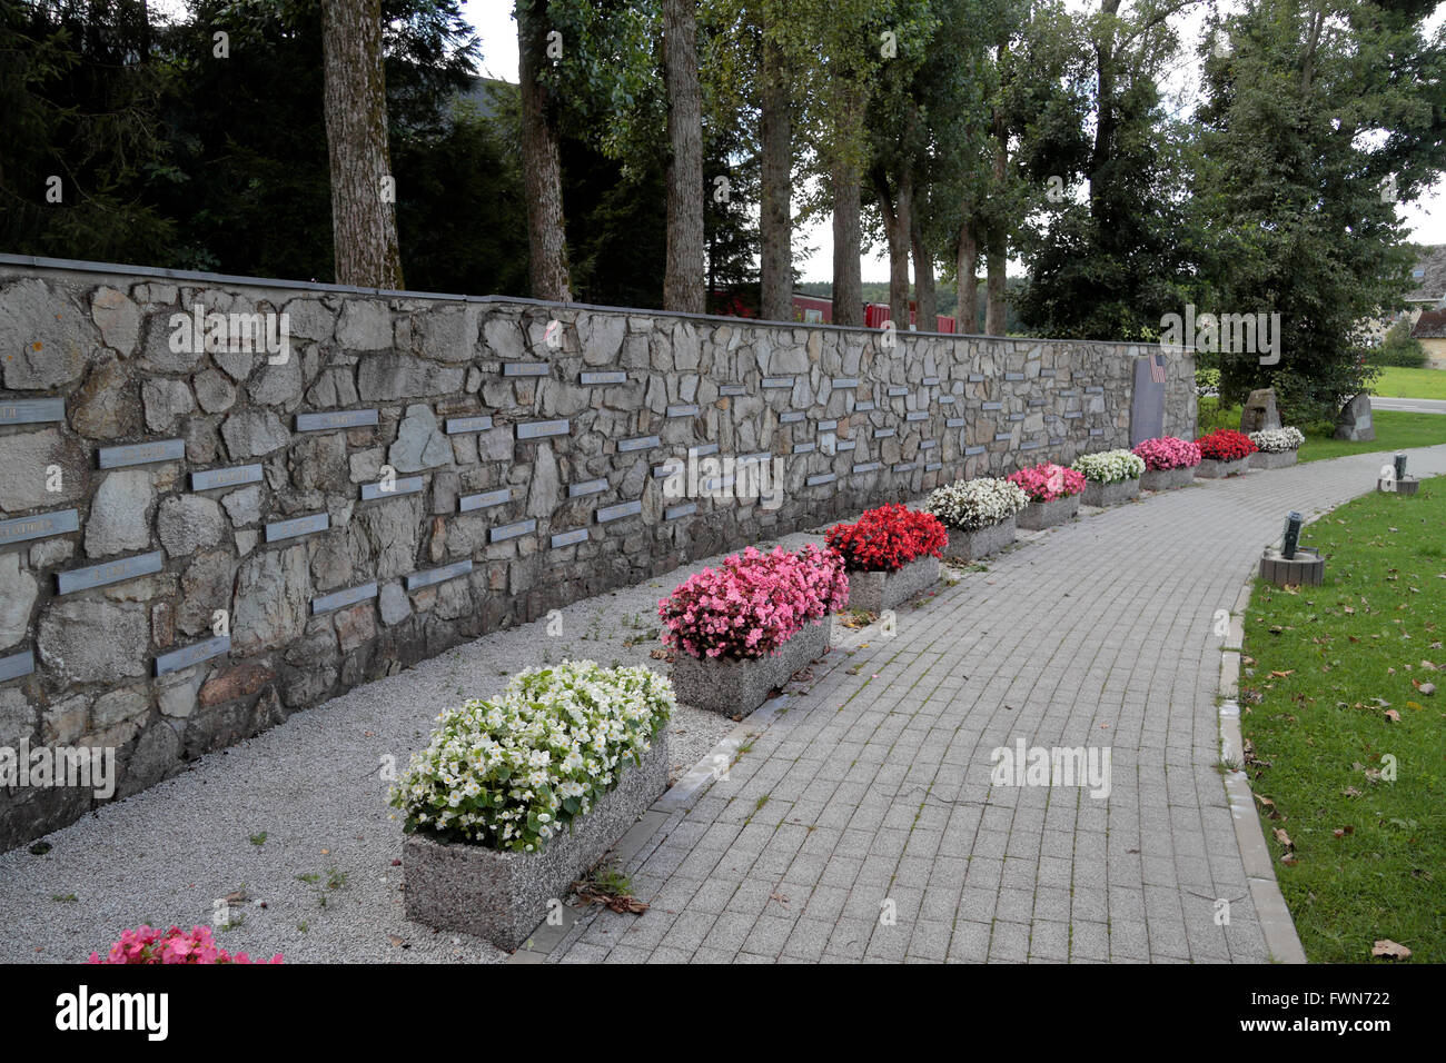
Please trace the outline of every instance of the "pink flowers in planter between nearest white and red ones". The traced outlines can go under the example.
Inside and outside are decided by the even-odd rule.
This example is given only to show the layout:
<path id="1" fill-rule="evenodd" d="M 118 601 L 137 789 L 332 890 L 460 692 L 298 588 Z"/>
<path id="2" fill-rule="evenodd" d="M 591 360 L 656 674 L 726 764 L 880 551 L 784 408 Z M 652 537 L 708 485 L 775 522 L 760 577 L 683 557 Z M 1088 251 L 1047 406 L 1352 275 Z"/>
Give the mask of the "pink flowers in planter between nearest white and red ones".
<path id="1" fill-rule="evenodd" d="M 749 547 L 719 568 L 704 568 L 658 602 L 662 641 L 707 659 L 746 659 L 778 652 L 805 623 L 843 609 L 849 579 L 831 550 Z"/>

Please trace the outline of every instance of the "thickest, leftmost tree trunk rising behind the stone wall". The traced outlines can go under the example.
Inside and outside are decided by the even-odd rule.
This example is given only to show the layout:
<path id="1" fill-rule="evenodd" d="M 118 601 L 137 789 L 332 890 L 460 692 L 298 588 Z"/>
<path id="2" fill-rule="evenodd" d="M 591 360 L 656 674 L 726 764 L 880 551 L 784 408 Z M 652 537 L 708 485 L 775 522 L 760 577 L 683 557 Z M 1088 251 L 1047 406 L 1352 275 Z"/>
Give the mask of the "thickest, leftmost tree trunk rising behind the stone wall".
<path id="1" fill-rule="evenodd" d="M 322 0 L 321 51 L 337 283 L 401 288 L 380 0 Z"/>

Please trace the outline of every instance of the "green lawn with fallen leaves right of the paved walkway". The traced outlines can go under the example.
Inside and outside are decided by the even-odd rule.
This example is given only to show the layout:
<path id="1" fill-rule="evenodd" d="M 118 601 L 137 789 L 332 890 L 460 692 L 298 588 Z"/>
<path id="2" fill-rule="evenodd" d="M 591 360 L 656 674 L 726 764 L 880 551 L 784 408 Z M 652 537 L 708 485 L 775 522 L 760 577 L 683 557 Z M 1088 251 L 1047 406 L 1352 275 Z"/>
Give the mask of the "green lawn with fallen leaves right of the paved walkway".
<path id="1" fill-rule="evenodd" d="M 1251 596 L 1246 771 L 1312 962 L 1372 962 L 1379 939 L 1446 962 L 1443 528 L 1446 479 L 1368 495 L 1306 528 L 1323 586 Z"/>

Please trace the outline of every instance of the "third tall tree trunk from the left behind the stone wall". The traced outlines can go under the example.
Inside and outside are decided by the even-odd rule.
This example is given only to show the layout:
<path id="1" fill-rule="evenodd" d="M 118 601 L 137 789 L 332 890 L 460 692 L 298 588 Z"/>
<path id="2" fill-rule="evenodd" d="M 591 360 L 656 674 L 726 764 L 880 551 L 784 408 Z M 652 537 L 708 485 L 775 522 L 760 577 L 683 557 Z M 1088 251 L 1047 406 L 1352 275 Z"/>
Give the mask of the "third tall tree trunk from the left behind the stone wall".
<path id="1" fill-rule="evenodd" d="M 662 307 L 701 314 L 703 95 L 698 88 L 697 0 L 664 0 L 664 80 L 668 87 L 668 256 Z"/>

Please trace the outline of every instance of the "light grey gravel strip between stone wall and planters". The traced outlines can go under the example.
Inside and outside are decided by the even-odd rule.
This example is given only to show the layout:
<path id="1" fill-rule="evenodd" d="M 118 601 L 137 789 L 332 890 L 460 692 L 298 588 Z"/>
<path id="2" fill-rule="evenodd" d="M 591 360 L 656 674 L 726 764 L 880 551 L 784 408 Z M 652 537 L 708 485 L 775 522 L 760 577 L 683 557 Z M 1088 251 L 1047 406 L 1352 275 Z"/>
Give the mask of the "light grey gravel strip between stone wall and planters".
<path id="1" fill-rule="evenodd" d="M 797 548 L 820 535 L 781 541 Z M 438 712 L 500 691 L 526 667 L 591 658 L 667 673 L 651 657 L 661 646 L 656 602 L 714 561 L 577 602 L 561 610 L 558 635 L 538 620 L 359 687 L 49 834 L 40 856 L 29 846 L 0 853 L 0 962 L 75 962 L 140 923 L 215 923 L 217 900 L 240 892 L 246 900 L 230 905 L 236 926 L 217 930 L 230 952 L 281 952 L 288 962 L 506 959 L 402 915 L 402 868 L 393 863 L 402 833 L 386 804 L 382 758 L 405 767 Z M 733 726 L 678 706 L 671 778 Z"/>

